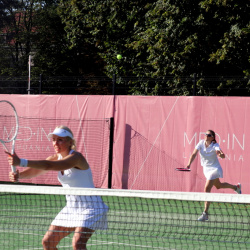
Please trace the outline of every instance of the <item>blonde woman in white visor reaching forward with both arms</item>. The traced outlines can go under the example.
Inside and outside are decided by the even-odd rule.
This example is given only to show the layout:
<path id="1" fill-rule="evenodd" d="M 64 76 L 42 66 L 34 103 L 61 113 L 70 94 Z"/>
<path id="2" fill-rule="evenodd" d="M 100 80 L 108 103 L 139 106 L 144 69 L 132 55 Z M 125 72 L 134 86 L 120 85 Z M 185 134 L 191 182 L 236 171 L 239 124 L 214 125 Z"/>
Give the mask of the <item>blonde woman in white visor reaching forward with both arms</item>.
<path id="1" fill-rule="evenodd" d="M 55 154 L 46 160 L 31 161 L 20 159 L 15 153 L 8 154 L 10 165 L 27 167 L 22 172 L 11 172 L 9 178 L 37 177 L 47 171 L 58 171 L 58 180 L 65 187 L 94 188 L 91 169 L 83 155 L 75 151 L 72 131 L 58 126 L 49 134 Z M 52 221 L 42 240 L 44 249 L 57 249 L 61 239 L 74 232 L 73 249 L 86 249 L 88 239 L 96 229 L 107 229 L 108 207 L 99 196 L 66 196 L 67 204 Z"/>

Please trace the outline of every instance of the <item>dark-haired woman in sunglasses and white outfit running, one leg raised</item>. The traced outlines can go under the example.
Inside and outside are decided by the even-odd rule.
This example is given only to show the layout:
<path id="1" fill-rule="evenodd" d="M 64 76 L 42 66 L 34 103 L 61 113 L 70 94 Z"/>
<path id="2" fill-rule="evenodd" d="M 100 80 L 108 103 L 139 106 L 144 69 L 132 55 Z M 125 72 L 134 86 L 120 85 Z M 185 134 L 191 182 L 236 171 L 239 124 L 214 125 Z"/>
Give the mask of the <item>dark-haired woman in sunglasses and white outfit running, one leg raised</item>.
<path id="1" fill-rule="evenodd" d="M 222 152 L 219 144 L 215 139 L 215 132 L 208 130 L 205 134 L 204 140 L 201 140 L 195 147 L 192 155 L 190 156 L 187 168 L 190 168 L 197 153 L 200 153 L 201 165 L 203 166 L 203 173 L 207 179 L 204 191 L 210 193 L 213 186 L 217 189 L 231 188 L 236 193 L 241 194 L 241 184 L 231 185 L 227 182 L 220 182 L 220 178 L 223 177 L 223 170 L 221 168 L 218 157 L 224 159 L 225 154 Z M 217 157 L 218 156 L 218 157 Z M 209 202 L 205 202 L 205 209 L 202 215 L 198 218 L 199 221 L 208 220 Z"/>

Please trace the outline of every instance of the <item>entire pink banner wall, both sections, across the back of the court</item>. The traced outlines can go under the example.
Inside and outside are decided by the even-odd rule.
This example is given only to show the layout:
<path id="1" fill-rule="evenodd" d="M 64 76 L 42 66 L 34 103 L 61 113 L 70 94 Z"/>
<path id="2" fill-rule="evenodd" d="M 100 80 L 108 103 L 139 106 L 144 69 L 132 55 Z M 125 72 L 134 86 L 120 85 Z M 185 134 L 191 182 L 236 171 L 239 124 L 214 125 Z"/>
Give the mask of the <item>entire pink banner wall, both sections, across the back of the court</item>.
<path id="1" fill-rule="evenodd" d="M 206 180 L 199 157 L 193 162 L 191 172 L 177 172 L 175 168 L 186 166 L 195 145 L 212 129 L 226 154 L 220 160 L 224 171 L 221 181 L 240 182 L 243 193 L 250 192 L 247 127 L 250 99 L 247 97 L 1 95 L 0 98 L 11 101 L 20 121 L 23 119 L 16 149 L 20 157 L 44 159 L 53 153 L 46 136 L 55 125 L 67 120 L 74 128 L 78 150 L 90 162 L 98 187 L 107 188 L 108 181 L 107 170 L 100 170 L 107 168 L 108 138 L 106 132 L 98 135 L 105 125 L 98 121 L 84 127 L 80 120 L 114 117 L 112 188 L 203 192 Z M 32 126 L 27 117 L 34 119 Z M 28 135 L 32 136 L 31 145 L 27 143 Z M 105 146 L 98 146 L 99 139 L 95 136 L 102 137 Z M 26 147 L 31 147 L 29 154 Z M 105 151 L 102 160 L 101 151 Z M 5 155 L 0 153 L 0 157 L 0 180 L 7 181 L 10 169 Z M 55 179 L 53 174 L 35 178 L 33 182 L 55 184 Z M 233 193 L 215 188 L 212 192 Z"/>

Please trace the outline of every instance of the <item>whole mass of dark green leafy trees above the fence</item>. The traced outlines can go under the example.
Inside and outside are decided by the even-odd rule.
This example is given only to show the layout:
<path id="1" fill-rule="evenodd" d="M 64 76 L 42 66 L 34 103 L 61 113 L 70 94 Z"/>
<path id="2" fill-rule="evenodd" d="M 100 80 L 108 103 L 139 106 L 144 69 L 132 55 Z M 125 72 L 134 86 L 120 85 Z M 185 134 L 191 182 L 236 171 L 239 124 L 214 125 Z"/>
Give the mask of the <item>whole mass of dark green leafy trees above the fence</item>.
<path id="1" fill-rule="evenodd" d="M 248 81 L 232 80 L 250 75 L 250 3 L 245 1 L 11 0 L 0 4 L 2 30 L 15 27 L 17 9 L 26 15 L 26 21 L 10 33 L 18 50 L 14 44 L 8 44 L 11 53 L 1 49 L 1 55 L 8 54 L 2 58 L 12 58 L 11 67 L 1 59 L 2 74 L 15 67 L 20 70 L 12 72 L 23 74 L 32 50 L 36 74 L 139 77 L 140 81 L 121 82 L 132 94 L 190 95 L 194 82 L 185 79 L 194 74 L 200 95 L 249 91 Z M 123 58 L 117 60 L 117 54 Z M 230 80 L 206 80 L 222 76 Z"/>

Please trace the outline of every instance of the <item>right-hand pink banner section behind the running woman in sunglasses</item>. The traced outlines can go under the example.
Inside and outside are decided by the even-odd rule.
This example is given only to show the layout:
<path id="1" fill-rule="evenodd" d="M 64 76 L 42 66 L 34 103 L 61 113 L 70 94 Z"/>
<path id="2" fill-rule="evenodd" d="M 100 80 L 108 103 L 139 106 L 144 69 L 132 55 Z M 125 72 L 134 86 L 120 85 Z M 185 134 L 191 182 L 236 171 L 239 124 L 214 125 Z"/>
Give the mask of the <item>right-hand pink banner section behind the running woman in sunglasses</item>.
<path id="1" fill-rule="evenodd" d="M 117 97 L 113 188 L 203 192 L 206 180 L 200 157 L 191 172 L 175 168 L 187 165 L 195 145 L 212 129 L 226 154 L 220 160 L 221 181 L 241 182 L 243 192 L 249 193 L 249 101 L 240 97 Z M 213 192 L 233 191 L 214 188 Z"/>

